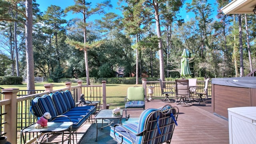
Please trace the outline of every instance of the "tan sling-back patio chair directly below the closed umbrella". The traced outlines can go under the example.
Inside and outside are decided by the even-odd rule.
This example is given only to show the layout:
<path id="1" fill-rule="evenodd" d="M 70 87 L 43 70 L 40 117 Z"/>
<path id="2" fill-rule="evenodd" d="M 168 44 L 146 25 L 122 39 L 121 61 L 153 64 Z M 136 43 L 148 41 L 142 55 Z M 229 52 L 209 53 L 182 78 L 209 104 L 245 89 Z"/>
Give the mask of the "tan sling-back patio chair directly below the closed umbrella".
<path id="1" fill-rule="evenodd" d="M 189 105 L 186 102 L 186 99 L 189 100 L 190 104 L 192 105 L 190 101 L 190 91 L 189 91 L 189 84 L 188 79 L 176 79 L 176 97 L 180 98 L 180 102 L 177 103 L 177 105 Z M 178 99 L 177 99 L 178 100 Z M 176 100 L 176 102 L 177 102 Z"/>

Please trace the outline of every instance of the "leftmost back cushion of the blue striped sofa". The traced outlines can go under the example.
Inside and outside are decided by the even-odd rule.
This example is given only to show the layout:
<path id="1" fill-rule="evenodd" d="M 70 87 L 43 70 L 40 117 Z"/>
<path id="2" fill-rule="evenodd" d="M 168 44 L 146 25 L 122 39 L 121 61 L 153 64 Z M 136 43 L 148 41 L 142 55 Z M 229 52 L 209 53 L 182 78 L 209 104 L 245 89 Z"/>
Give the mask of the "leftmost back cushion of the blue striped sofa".
<path id="1" fill-rule="evenodd" d="M 42 97 L 36 97 L 31 101 L 31 106 L 36 117 L 41 117 L 45 112 L 49 112 L 52 115 L 51 121 L 53 118 L 58 116 L 58 112 L 54 107 L 52 98 L 49 95 L 43 95 Z"/>

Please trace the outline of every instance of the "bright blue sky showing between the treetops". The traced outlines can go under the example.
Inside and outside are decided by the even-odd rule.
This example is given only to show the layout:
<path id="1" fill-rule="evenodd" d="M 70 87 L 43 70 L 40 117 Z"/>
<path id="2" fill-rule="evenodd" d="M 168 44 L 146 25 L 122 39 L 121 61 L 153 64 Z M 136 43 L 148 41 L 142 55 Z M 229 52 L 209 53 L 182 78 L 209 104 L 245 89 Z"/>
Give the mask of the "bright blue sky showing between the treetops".
<path id="1" fill-rule="evenodd" d="M 104 0 L 86 0 L 86 2 L 92 2 L 91 6 L 94 7 L 96 5 L 97 2 L 102 2 Z M 192 0 L 186 0 L 186 2 L 191 2 Z M 217 6 L 214 6 L 214 2 L 216 0 L 208 0 L 208 2 L 210 2 L 211 4 L 213 4 L 213 8 L 214 8 L 214 12 L 212 14 L 212 16 L 216 16 L 217 14 Z M 120 16 L 122 16 L 122 12 L 118 9 L 116 9 L 118 6 L 117 4 L 118 0 L 111 0 L 111 4 L 113 6 L 113 8 L 110 8 L 109 10 L 106 9 L 106 12 L 114 12 Z M 36 0 L 36 3 L 38 3 L 39 9 L 42 12 L 45 12 L 47 10 L 47 7 L 50 5 L 56 5 L 56 6 L 60 6 L 62 9 L 65 9 L 68 6 L 72 6 L 74 5 L 74 0 Z M 195 15 L 193 12 L 186 12 L 186 4 L 184 4 L 184 6 L 181 8 L 180 10 L 180 15 L 182 16 L 182 18 L 186 21 L 190 20 L 190 18 L 194 18 Z M 100 19 L 103 15 L 92 15 L 87 19 L 88 21 L 94 21 L 96 19 Z M 82 18 L 82 14 L 72 14 L 72 12 L 68 12 L 67 16 L 66 16 L 66 20 L 70 20 L 72 18 Z"/>

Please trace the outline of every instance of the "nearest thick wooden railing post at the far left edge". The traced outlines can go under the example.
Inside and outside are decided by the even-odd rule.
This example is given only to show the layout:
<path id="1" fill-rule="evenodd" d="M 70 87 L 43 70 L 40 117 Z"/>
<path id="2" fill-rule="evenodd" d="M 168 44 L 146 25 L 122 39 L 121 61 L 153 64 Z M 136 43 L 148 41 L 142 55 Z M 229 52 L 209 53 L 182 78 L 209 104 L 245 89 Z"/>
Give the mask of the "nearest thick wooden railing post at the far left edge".
<path id="1" fill-rule="evenodd" d="M 17 93 L 19 89 L 2 89 L 4 99 L 10 100 L 9 105 L 4 106 L 6 115 L 4 116 L 4 132 L 6 132 L 8 142 L 12 144 L 17 143 Z"/>

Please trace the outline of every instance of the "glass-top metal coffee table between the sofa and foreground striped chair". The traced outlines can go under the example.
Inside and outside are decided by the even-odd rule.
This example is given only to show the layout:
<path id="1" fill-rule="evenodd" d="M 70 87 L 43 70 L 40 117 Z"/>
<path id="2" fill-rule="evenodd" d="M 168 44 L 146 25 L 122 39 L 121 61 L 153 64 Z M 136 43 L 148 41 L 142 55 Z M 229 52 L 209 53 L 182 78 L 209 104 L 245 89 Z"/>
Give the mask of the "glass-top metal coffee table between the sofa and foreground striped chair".
<path id="1" fill-rule="evenodd" d="M 120 116 L 113 116 L 112 109 L 100 110 L 95 116 L 95 122 L 96 122 L 96 128 L 97 128 L 96 141 L 98 137 L 98 124 L 97 124 L 98 119 L 102 119 L 102 125 L 100 128 L 104 128 L 104 127 L 110 126 L 115 120 L 119 120 L 119 123 L 122 124 L 122 117 L 123 117 L 122 109 L 120 110 Z M 109 120 L 108 125 L 103 126 L 103 120 Z"/>

